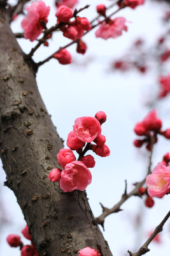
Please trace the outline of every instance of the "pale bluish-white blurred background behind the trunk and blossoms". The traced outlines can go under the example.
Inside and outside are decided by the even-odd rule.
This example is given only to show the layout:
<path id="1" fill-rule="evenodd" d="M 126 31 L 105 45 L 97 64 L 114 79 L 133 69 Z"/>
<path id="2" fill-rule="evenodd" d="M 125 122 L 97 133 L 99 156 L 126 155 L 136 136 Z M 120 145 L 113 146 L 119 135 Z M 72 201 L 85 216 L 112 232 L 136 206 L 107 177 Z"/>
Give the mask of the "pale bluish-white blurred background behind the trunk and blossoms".
<path id="1" fill-rule="evenodd" d="M 51 6 L 47 25 L 50 28 L 56 23 L 57 9 L 54 0 L 44 1 Z M 15 4 L 15 0 L 9 2 Z M 92 20 L 97 16 L 97 4 L 109 6 L 112 2 L 80 0 L 76 8 L 90 4 L 87 10 L 80 13 L 80 17 Z M 114 8 L 108 14 L 117 10 L 117 6 Z M 87 188 L 90 206 L 96 217 L 102 212 L 99 202 L 105 207 L 112 207 L 120 200 L 125 180 L 129 192 L 132 184 L 146 175 L 149 152 L 145 146 L 134 147 L 133 141 L 138 137 L 134 134 L 134 125 L 156 108 L 163 129 L 170 128 L 169 95 L 161 99 L 158 97 L 161 90 L 159 77 L 169 76 L 170 72 L 169 57 L 162 61 L 162 54 L 168 51 L 170 42 L 169 12 L 170 4 L 164 1 L 148 0 L 134 10 L 125 8 L 113 16 L 127 19 L 128 31 L 122 36 L 104 40 L 96 38 L 94 29 L 83 38 L 88 47 L 85 55 L 78 54 L 76 45 L 72 45 L 67 48 L 73 58 L 71 65 L 60 65 L 53 59 L 38 70 L 39 91 L 65 146 L 67 134 L 72 131 L 76 118 L 94 116 L 97 111 L 104 111 L 107 115 L 102 134 L 106 136 L 111 154 L 103 158 L 92 154 L 96 166 L 91 169 L 92 183 Z M 23 18 L 24 15 L 19 15 L 12 22 L 13 32 L 22 32 L 20 22 Z M 165 38 L 163 44 L 160 42 L 162 37 Z M 55 33 L 49 40 L 49 47 L 41 46 L 35 52 L 34 60 L 44 60 L 69 42 L 62 33 Z M 24 39 L 18 39 L 18 43 L 26 53 L 36 45 L 36 42 Z M 170 152 L 170 141 L 160 136 L 153 148 L 152 168 L 162 161 L 167 152 Z M 6 237 L 8 234 L 21 236 L 25 220 L 13 192 L 3 186 L 6 175 L 2 163 L 0 167 L 0 255 L 17 256 L 20 251 L 10 248 Z M 144 201 L 145 196 L 129 198 L 121 207 L 124 211 L 106 218 L 103 234 L 113 255 L 124 256 L 129 255 L 127 250 L 138 251 L 169 211 L 167 195 L 154 198 L 152 208 L 145 207 Z M 21 237 L 25 244 L 29 244 Z M 170 221 L 164 225 L 159 238 L 159 242 L 150 244 L 148 255 L 169 255 Z"/>

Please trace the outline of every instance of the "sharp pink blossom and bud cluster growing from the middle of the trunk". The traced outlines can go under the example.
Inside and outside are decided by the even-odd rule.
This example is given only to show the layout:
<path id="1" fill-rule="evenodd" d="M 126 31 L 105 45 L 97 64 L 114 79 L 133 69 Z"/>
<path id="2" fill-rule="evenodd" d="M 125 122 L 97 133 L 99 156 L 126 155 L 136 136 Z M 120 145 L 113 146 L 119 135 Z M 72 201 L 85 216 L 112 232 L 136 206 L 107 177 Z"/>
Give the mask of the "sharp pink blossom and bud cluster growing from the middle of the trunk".
<path id="1" fill-rule="evenodd" d="M 83 116 L 75 120 L 73 131 L 67 136 L 69 148 L 62 148 L 57 154 L 57 160 L 64 170 L 55 168 L 48 175 L 52 182 L 60 182 L 60 188 L 64 192 L 75 189 L 83 191 L 91 183 L 92 174 L 89 168 L 93 168 L 96 162 L 93 156 L 85 156 L 88 150 L 101 157 L 110 155 L 110 149 L 105 144 L 106 138 L 101 134 L 101 124 L 105 121 L 106 114 L 103 111 L 97 112 L 95 117 Z M 73 150 L 79 154 L 77 160 Z"/>

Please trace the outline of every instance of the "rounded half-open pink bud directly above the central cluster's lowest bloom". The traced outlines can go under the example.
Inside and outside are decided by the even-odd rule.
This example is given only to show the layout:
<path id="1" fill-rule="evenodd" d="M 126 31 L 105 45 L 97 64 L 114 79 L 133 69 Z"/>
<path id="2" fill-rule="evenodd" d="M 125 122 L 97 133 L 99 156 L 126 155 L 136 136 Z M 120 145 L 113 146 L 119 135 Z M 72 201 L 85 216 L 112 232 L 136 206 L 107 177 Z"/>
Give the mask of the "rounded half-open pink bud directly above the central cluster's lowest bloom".
<path id="1" fill-rule="evenodd" d="M 62 166 L 62 168 L 64 168 L 66 166 L 66 164 L 75 161 L 76 157 L 74 156 L 73 151 L 71 149 L 62 148 L 62 149 L 60 149 L 59 154 L 57 154 L 57 160 L 58 160 L 60 166 Z"/>

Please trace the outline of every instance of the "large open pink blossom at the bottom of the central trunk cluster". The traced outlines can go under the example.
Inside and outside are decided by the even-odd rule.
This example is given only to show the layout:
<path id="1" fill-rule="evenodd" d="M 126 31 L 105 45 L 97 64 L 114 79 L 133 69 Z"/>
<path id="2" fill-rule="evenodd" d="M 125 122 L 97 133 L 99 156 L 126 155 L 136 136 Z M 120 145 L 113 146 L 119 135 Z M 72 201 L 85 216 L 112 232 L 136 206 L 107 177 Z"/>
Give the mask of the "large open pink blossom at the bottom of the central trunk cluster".
<path id="1" fill-rule="evenodd" d="M 64 192 L 72 192 L 75 189 L 85 190 L 92 181 L 92 175 L 81 161 L 73 161 L 66 164 L 61 172 L 60 188 Z"/>

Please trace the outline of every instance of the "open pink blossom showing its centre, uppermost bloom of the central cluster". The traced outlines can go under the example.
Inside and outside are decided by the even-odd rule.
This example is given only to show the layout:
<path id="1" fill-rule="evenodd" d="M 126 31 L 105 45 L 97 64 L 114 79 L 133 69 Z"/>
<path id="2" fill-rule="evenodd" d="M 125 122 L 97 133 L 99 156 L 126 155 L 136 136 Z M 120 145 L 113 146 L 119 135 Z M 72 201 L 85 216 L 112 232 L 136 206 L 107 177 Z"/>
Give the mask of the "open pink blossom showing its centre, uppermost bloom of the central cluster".
<path id="1" fill-rule="evenodd" d="M 99 121 L 92 116 L 76 118 L 73 125 L 73 132 L 78 138 L 85 142 L 91 142 L 101 134 Z"/>

